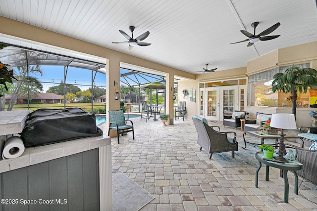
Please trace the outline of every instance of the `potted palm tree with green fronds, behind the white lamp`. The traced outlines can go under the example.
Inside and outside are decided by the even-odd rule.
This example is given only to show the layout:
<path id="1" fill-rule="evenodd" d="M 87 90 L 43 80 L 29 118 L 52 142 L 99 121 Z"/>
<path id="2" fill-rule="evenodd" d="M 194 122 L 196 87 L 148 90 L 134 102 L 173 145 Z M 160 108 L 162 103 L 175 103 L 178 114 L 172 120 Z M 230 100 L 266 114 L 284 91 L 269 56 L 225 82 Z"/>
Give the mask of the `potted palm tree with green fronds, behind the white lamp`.
<path id="1" fill-rule="evenodd" d="M 296 117 L 297 90 L 306 93 L 309 88 L 317 88 L 317 70 L 292 66 L 284 73 L 273 76 L 272 91 L 290 93 L 292 99 L 292 114 Z"/>

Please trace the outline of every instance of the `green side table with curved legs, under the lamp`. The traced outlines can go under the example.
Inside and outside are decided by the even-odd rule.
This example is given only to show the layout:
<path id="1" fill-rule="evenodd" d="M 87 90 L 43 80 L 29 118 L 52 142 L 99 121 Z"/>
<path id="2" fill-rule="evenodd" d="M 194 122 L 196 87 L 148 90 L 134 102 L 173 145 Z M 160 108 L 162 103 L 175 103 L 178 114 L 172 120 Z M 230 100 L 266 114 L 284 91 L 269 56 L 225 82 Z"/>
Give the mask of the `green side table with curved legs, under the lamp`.
<path id="1" fill-rule="evenodd" d="M 283 170 L 283 178 L 284 178 L 284 202 L 288 203 L 288 178 L 287 178 L 287 171 L 292 171 L 295 176 L 295 184 L 294 184 L 294 193 L 298 195 L 298 176 L 296 173 L 296 170 L 302 169 L 303 165 L 299 163 L 298 161 L 290 161 L 289 163 L 277 163 L 273 161 L 267 161 L 263 160 L 264 153 L 263 152 L 257 152 L 256 153 L 256 159 L 259 161 L 258 169 L 256 170 L 256 188 L 258 187 L 258 174 L 262 167 L 262 164 L 266 165 L 265 169 L 265 180 L 268 181 L 268 171 L 269 167 L 274 167 L 277 169 Z"/>

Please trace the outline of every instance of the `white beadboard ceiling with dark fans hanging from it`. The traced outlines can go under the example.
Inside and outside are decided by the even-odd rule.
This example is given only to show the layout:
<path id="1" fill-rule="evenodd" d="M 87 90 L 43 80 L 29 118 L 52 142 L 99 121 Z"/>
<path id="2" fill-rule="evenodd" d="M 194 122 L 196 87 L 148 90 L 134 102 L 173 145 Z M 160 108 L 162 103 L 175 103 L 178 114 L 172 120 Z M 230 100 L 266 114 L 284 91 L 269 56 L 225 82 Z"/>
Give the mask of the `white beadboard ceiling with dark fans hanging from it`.
<path id="1" fill-rule="evenodd" d="M 316 0 L 0 0 L 0 15 L 53 32 L 131 54 L 186 72 L 245 67 L 247 61 L 277 48 L 317 41 Z M 229 44 L 247 39 L 240 30 L 256 34 L 277 22 L 270 41 Z M 150 31 L 135 46 L 134 38 Z M 0 40 L 1 41 L 1 40 Z"/>

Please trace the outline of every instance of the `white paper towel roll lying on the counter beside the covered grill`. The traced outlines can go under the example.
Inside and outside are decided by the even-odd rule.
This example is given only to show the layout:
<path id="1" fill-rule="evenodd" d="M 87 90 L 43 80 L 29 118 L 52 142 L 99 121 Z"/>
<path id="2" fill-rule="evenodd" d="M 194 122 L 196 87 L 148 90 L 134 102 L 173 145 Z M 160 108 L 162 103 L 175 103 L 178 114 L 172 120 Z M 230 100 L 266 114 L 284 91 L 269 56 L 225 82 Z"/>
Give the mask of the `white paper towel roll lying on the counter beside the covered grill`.
<path id="1" fill-rule="evenodd" d="M 24 144 L 20 137 L 11 136 L 6 139 L 2 151 L 2 159 L 5 158 L 17 158 L 24 152 Z"/>

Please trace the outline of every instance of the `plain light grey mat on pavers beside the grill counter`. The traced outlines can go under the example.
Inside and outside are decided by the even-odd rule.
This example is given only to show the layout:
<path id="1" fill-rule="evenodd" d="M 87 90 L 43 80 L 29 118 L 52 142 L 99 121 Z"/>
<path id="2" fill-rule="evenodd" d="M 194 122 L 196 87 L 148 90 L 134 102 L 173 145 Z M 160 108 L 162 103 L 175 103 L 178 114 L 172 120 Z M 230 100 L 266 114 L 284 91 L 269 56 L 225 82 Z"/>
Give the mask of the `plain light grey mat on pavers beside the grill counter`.
<path id="1" fill-rule="evenodd" d="M 112 174 L 113 211 L 138 211 L 154 198 L 121 171 Z"/>

